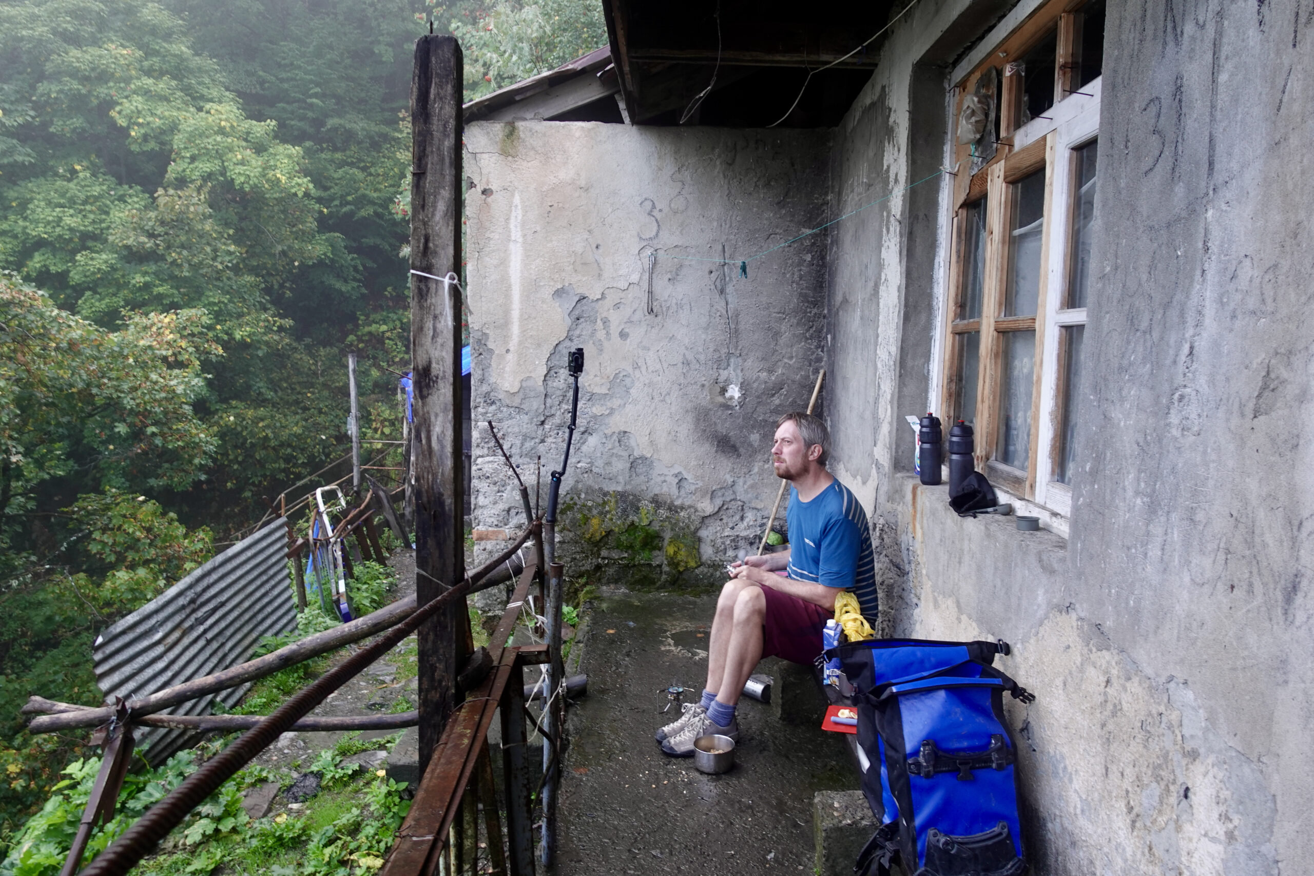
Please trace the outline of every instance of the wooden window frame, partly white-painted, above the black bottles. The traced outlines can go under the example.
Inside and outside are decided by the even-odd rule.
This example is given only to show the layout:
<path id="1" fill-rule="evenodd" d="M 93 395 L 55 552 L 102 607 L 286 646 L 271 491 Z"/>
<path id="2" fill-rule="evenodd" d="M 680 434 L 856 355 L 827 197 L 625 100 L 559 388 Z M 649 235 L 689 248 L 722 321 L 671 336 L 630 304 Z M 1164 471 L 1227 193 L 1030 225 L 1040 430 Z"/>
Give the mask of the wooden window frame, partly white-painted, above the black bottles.
<path id="1" fill-rule="evenodd" d="M 1096 138 L 1099 127 L 1101 79 L 1089 83 L 1083 92 L 1074 92 L 1076 72 L 1074 56 L 1081 39 L 1081 3 L 1051 0 L 1003 39 L 996 38 L 996 49 L 968 72 L 953 92 L 957 113 L 962 97 L 971 93 L 976 79 L 988 67 L 997 67 L 1000 87 L 1000 138 L 995 156 L 984 162 L 976 173 L 959 172 L 954 177 L 953 210 L 949 219 L 949 265 L 945 273 L 947 289 L 943 307 L 943 338 L 941 366 L 941 410 L 957 416 L 954 410 L 958 374 L 959 338 L 964 332 L 980 332 L 980 353 L 976 386 L 976 466 L 991 482 L 1020 499 L 1034 502 L 1051 512 L 1067 517 L 1071 514 L 1071 489 L 1054 479 L 1058 453 L 1062 448 L 1060 373 L 1064 351 L 1060 349 L 1063 327 L 1085 323 L 1085 309 L 1063 309 L 1070 277 L 1075 208 L 1072 179 L 1075 151 Z M 1021 96 L 1021 77 L 1007 76 L 1009 58 L 1018 58 L 1037 42 L 1058 30 L 1058 56 L 1055 59 L 1055 105 L 1045 116 L 1012 129 L 1016 101 Z M 959 171 L 970 171 L 970 146 L 954 144 Z M 1010 186 L 1034 172 L 1045 172 L 1045 225 L 1041 239 L 1041 276 L 1034 317 L 1003 317 L 1008 259 Z M 955 319 L 959 310 L 963 282 L 963 252 L 966 222 L 963 209 L 980 197 L 987 198 L 984 284 L 982 315 L 976 320 Z M 1003 335 L 1009 331 L 1034 331 L 1031 385 L 1031 433 L 1026 470 L 999 462 L 999 416 L 1001 394 Z M 1066 521 L 1063 523 L 1066 527 Z"/>

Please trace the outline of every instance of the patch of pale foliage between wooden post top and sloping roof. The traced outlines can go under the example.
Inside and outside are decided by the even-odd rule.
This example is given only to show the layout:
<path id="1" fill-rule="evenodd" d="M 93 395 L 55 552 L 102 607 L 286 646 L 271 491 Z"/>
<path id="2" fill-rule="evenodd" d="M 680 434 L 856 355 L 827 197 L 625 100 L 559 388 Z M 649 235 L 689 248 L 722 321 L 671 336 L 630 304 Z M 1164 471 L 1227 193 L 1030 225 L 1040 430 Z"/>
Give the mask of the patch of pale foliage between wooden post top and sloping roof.
<path id="1" fill-rule="evenodd" d="M 493 0 L 452 33 L 465 53 L 465 100 L 547 72 L 607 45 L 598 0 Z"/>

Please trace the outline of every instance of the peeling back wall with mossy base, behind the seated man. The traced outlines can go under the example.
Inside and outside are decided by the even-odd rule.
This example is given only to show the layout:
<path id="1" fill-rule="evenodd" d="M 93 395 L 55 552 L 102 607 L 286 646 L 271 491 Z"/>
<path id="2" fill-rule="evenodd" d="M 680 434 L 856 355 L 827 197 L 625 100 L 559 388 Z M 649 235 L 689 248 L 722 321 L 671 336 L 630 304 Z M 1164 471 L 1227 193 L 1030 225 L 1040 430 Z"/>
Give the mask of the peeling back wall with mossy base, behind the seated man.
<path id="1" fill-rule="evenodd" d="M 829 131 L 476 122 L 465 131 L 478 537 L 523 525 L 485 420 L 528 474 L 560 465 L 570 574 L 716 578 L 761 532 L 775 419 L 821 365 Z M 649 272 L 649 255 L 656 255 Z M 650 288 L 650 296 L 649 296 Z M 545 500 L 545 499 L 544 499 Z M 491 533 L 489 531 L 493 531 Z M 499 546 L 480 542 L 481 553 Z"/>

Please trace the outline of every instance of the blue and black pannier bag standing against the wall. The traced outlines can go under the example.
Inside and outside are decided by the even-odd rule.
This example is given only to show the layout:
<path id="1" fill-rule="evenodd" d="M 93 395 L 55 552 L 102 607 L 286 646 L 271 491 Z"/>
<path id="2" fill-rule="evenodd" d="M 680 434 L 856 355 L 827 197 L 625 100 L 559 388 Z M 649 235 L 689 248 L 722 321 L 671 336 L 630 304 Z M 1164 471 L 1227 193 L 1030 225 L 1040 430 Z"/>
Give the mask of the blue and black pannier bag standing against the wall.
<path id="1" fill-rule="evenodd" d="M 1016 743 L 1004 693 L 1035 697 L 991 663 L 1007 642 L 869 640 L 827 651 L 853 684 L 862 791 L 882 825 L 854 872 L 1017 876 Z"/>

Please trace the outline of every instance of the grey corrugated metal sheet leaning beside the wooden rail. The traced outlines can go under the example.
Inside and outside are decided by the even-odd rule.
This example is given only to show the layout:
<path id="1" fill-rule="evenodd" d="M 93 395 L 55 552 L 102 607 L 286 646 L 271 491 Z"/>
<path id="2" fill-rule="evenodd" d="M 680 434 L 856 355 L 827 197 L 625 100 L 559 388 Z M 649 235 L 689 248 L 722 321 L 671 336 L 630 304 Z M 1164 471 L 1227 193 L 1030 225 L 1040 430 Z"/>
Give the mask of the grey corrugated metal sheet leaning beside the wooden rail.
<path id="1" fill-rule="evenodd" d="M 261 636 L 290 630 L 297 607 L 288 575 L 288 529 L 276 520 L 177 582 L 96 640 L 96 683 L 109 696 L 131 699 L 237 666 Z M 250 684 L 166 709 L 208 714 L 218 699 L 237 704 Z M 198 734 L 152 728 L 138 745 L 160 763 Z"/>

